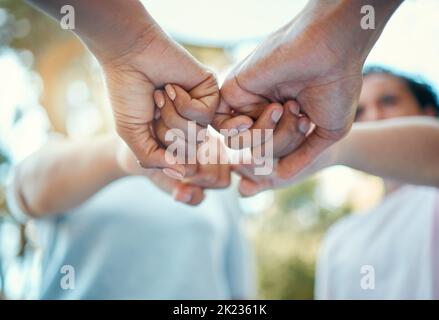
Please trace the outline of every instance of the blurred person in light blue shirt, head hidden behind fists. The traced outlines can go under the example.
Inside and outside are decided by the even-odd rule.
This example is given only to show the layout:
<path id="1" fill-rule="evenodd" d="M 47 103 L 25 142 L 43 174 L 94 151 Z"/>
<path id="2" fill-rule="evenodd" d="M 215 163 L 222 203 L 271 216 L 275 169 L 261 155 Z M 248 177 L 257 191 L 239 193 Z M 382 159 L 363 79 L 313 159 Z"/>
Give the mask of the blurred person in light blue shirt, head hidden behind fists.
<path id="1" fill-rule="evenodd" d="M 180 89 L 175 104 L 188 98 Z M 157 117 L 165 122 L 175 105 L 164 92 L 156 95 L 166 98 Z M 143 169 L 111 134 L 50 141 L 16 166 L 8 188 L 16 219 L 38 218 L 34 242 L 43 258 L 34 298 L 252 297 L 237 197 L 209 191 L 199 206 L 183 204 L 202 202 L 201 185 L 224 188 L 229 179 L 228 165 L 199 166 L 185 181 Z M 63 285 L 66 270 L 74 272 L 73 287 Z"/>

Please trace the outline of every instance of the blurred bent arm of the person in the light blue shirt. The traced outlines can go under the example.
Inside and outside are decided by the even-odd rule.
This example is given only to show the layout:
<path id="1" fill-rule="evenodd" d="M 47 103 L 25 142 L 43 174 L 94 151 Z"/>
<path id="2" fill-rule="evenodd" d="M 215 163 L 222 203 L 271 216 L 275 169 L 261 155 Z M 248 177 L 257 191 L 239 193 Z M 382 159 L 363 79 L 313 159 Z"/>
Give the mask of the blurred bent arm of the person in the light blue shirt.
<path id="1" fill-rule="evenodd" d="M 78 206 L 109 183 L 130 175 L 148 177 L 183 203 L 197 205 L 204 198 L 201 187 L 141 168 L 126 145 L 112 135 L 47 144 L 15 168 L 11 187 L 21 211 L 38 217 Z"/>

